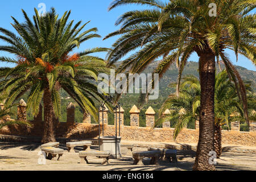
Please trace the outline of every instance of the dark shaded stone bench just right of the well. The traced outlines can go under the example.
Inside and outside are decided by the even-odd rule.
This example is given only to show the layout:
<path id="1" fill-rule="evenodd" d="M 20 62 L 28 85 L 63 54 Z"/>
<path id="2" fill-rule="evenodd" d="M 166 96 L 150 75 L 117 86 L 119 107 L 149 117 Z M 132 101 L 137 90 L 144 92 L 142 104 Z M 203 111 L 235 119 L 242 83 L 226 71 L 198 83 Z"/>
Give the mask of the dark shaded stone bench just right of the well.
<path id="1" fill-rule="evenodd" d="M 134 164 L 135 165 L 144 165 L 142 162 L 143 158 L 151 158 L 150 164 L 159 165 L 160 155 L 161 155 L 160 151 L 133 152 Z"/>

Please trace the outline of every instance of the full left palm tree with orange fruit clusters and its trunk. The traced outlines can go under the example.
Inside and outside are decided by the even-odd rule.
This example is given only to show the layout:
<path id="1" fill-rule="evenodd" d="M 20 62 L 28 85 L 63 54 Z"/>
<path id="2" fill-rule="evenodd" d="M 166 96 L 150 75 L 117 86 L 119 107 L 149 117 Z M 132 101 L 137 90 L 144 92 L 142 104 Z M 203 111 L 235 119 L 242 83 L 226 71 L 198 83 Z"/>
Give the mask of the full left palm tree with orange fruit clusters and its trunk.
<path id="1" fill-rule="evenodd" d="M 42 143 L 55 142 L 55 121 L 60 117 L 60 88 L 67 92 L 85 113 L 97 121 L 96 101 L 104 99 L 97 91 L 97 75 L 106 72 L 106 64 L 100 57 L 90 53 L 107 51 L 107 48 L 92 48 L 73 53 L 80 44 L 92 38 L 100 38 L 94 33 L 97 28 L 82 31 L 87 23 L 81 21 L 73 25 L 68 22 L 71 11 L 58 18 L 55 9 L 44 16 L 39 16 L 35 9 L 33 21 L 23 11 L 25 23 L 13 18 L 18 36 L 0 28 L 0 39 L 9 46 L 0 46 L 16 56 L 0 57 L 5 63 L 15 63 L 14 68 L 1 68 L 1 92 L 6 96 L 6 107 L 13 104 L 27 91 L 30 92 L 27 108 L 34 115 L 39 113 L 43 101 L 44 133 Z M 89 23 L 89 22 L 88 22 Z"/>

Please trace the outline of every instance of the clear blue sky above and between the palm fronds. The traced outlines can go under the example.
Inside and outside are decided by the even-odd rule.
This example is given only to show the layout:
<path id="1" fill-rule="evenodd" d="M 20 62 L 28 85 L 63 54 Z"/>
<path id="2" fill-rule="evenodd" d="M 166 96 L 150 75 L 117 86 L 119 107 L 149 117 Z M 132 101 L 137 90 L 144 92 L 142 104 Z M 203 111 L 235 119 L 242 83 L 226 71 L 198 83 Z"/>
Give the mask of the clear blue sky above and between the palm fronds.
<path id="1" fill-rule="evenodd" d="M 0 11 L 0 27 L 6 28 L 7 30 L 14 31 L 14 28 L 10 23 L 13 23 L 13 19 L 11 16 L 14 16 L 19 22 L 24 22 L 24 18 L 22 15 L 21 9 L 24 9 L 27 14 L 32 18 L 34 15 L 34 7 L 38 10 L 39 3 L 45 3 L 47 11 L 51 9 L 51 7 L 55 7 L 57 13 L 61 16 L 67 10 L 72 10 L 70 20 L 74 19 L 75 22 L 82 20 L 82 22 L 86 23 L 89 20 L 91 21 L 85 28 L 89 29 L 92 27 L 98 28 L 98 34 L 104 38 L 104 36 L 108 35 L 110 32 L 113 32 L 118 29 L 114 25 L 115 20 L 129 10 L 142 9 L 141 6 L 120 6 L 112 11 L 108 11 L 108 7 L 112 0 L 8 0 L 1 1 L 1 11 Z M 145 6 L 144 6 L 145 7 Z M 255 12 L 255 11 L 254 11 Z M 102 38 L 95 38 L 89 40 L 82 44 L 79 48 L 80 51 L 83 51 L 86 48 L 92 47 L 111 47 L 117 37 L 113 37 L 107 40 L 102 40 Z M 0 45 L 6 44 L 0 40 Z M 231 60 L 235 65 L 240 65 L 247 69 L 256 71 L 256 67 L 254 64 L 250 62 L 250 60 L 246 59 L 244 56 L 238 57 L 238 62 L 236 62 L 236 56 L 234 56 L 233 52 L 228 52 Z M 11 56 L 8 53 L 0 52 L 0 56 Z M 105 57 L 105 53 L 99 53 L 98 56 Z M 197 61 L 199 57 L 196 54 L 193 54 L 190 58 L 191 61 Z M 13 67 L 12 64 L 0 63 L 0 67 Z"/>

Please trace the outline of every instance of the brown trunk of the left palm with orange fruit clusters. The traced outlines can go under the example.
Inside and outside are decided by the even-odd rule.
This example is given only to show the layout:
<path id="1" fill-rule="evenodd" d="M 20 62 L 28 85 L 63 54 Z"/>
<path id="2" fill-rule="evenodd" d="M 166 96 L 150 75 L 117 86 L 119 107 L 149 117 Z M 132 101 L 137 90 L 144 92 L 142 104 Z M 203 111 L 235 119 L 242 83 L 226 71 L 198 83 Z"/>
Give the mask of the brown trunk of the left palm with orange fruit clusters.
<path id="1" fill-rule="evenodd" d="M 51 100 L 51 92 L 47 88 L 44 90 L 44 133 L 42 143 L 56 142 L 55 139 L 55 114 Z"/>

